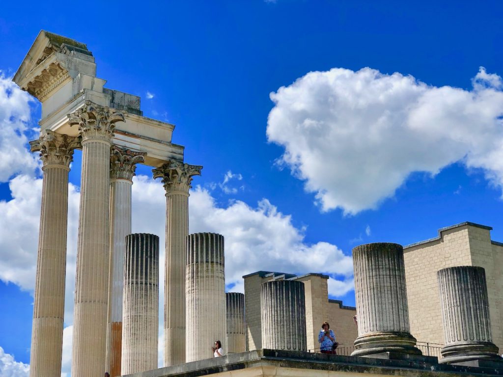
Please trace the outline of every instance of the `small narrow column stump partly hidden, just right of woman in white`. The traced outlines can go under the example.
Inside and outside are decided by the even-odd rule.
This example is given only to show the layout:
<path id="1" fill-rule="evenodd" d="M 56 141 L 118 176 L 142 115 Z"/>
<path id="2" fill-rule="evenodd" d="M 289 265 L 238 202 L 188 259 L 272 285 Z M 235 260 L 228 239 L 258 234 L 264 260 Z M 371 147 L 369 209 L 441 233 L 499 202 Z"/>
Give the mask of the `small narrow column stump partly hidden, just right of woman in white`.
<path id="1" fill-rule="evenodd" d="M 226 293 L 227 308 L 227 353 L 245 351 L 244 344 L 244 295 L 242 293 Z"/>

